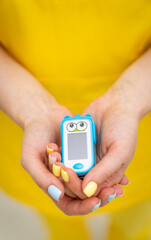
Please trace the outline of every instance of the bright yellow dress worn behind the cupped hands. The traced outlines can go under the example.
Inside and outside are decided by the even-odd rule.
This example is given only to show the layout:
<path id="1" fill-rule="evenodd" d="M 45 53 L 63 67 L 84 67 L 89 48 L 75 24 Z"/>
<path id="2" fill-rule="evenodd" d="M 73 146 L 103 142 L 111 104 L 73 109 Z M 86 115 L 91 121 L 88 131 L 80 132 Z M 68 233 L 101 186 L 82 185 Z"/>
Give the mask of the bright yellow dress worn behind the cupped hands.
<path id="1" fill-rule="evenodd" d="M 81 113 L 150 45 L 151 1 L 1 0 L 0 41 L 58 102 Z M 23 132 L 2 112 L 0 136 L 1 187 L 43 214 L 51 239 L 90 239 L 88 216 L 64 215 L 22 169 Z M 124 196 L 89 215 L 111 214 L 108 239 L 149 239 L 150 136 L 149 114 L 139 125 Z"/>

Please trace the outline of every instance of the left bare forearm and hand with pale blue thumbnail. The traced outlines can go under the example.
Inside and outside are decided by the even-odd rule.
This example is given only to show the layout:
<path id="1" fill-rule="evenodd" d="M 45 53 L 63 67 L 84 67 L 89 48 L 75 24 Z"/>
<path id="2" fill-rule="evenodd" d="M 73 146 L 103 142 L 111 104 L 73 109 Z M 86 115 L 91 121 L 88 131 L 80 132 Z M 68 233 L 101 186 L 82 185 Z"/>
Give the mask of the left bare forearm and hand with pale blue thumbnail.
<path id="1" fill-rule="evenodd" d="M 49 191 L 53 201 L 66 214 L 81 215 L 91 212 L 99 199 L 92 197 L 82 201 L 67 196 L 65 193 L 67 190 L 68 194 L 71 193 L 70 189 L 64 188 L 62 182 L 48 169 L 46 145 L 55 142 L 60 146 L 60 122 L 65 115 L 71 115 L 71 112 L 60 106 L 37 79 L 2 47 L 0 109 L 25 131 L 21 163 L 36 183 L 47 194 Z M 81 184 L 79 191 L 82 193 Z"/>

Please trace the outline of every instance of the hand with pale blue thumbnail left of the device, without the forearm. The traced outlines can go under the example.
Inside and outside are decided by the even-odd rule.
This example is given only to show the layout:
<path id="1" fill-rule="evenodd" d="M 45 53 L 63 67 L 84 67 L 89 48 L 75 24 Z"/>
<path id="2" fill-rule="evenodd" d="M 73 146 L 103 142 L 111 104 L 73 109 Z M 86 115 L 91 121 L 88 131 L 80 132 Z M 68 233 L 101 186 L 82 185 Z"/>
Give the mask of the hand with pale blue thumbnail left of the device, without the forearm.
<path id="1" fill-rule="evenodd" d="M 50 172 L 46 153 L 49 142 L 61 146 L 60 123 L 66 115 L 72 116 L 72 113 L 64 106 L 55 104 L 49 109 L 47 116 L 41 115 L 39 119 L 28 121 L 22 142 L 21 164 L 60 210 L 67 215 L 83 215 L 91 212 L 91 209 L 99 203 L 99 199 L 92 197 L 81 200 L 68 196 L 62 181 Z M 59 153 L 56 154 L 59 156 Z"/>

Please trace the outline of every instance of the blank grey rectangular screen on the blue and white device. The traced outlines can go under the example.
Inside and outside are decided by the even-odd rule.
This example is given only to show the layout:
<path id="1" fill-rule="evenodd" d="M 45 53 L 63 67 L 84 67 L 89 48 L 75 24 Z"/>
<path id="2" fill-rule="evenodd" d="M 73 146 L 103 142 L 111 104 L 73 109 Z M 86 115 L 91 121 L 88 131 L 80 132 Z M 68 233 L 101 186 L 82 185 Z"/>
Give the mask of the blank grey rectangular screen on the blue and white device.
<path id="1" fill-rule="evenodd" d="M 68 160 L 87 159 L 87 133 L 69 133 Z"/>

